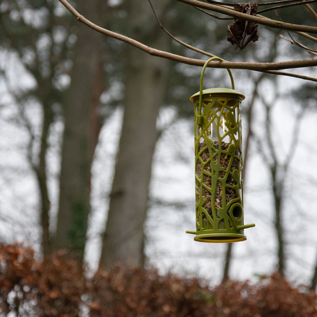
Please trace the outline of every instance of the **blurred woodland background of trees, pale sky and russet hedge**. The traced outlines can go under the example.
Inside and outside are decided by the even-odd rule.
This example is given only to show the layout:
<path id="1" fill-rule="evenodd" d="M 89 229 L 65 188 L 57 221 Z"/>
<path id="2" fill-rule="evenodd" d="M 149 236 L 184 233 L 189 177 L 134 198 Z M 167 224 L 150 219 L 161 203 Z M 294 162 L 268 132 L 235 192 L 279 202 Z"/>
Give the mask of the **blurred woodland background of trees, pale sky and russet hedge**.
<path id="1" fill-rule="evenodd" d="M 152 2 L 174 36 L 226 61 L 316 56 L 262 25 L 236 49 L 232 21 Z M 148 1 L 71 3 L 101 27 L 207 60 L 167 36 Z M 263 15 L 316 25 L 304 5 Z M 256 227 L 215 245 L 185 234 L 200 72 L 104 36 L 58 1 L 0 2 L 0 316 L 317 316 L 316 82 L 233 70 Z M 230 87 L 227 71 L 208 68 L 204 87 Z"/>

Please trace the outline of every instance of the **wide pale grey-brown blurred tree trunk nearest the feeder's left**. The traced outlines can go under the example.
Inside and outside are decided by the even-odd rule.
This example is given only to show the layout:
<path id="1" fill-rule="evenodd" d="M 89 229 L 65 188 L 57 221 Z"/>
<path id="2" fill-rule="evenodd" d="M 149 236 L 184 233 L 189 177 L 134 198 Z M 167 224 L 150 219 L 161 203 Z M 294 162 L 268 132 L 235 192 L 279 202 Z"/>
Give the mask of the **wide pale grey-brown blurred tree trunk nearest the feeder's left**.
<path id="1" fill-rule="evenodd" d="M 161 8 L 168 2 L 161 2 Z M 163 32 L 159 36 L 151 32 L 151 26 L 159 30 L 156 21 L 151 18 L 142 23 L 138 19 L 151 16 L 149 4 L 130 5 L 130 35 L 135 38 L 141 34 L 143 39 L 155 37 L 157 45 L 166 49 L 168 37 Z M 139 23 L 133 25 L 133 21 Z M 116 261 L 128 266 L 144 263 L 144 222 L 157 136 L 156 120 L 166 92 L 168 61 L 131 46 L 127 47 L 126 60 L 125 109 L 100 258 L 103 269 L 111 268 Z"/>

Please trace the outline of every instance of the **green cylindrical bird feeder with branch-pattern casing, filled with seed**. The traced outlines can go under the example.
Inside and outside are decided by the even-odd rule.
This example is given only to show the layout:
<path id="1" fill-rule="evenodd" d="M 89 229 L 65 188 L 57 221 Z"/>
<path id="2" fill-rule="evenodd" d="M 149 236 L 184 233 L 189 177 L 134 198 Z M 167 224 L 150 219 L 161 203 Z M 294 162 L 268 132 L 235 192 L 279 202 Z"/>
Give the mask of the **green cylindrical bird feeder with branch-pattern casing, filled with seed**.
<path id="1" fill-rule="evenodd" d="M 241 101 L 245 98 L 232 89 L 203 90 L 204 64 L 200 90 L 190 100 L 195 107 L 195 182 L 196 231 L 200 242 L 238 242 L 246 240 L 243 224 L 243 163 Z"/>

